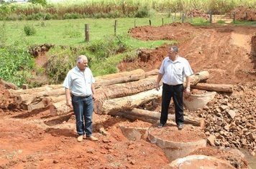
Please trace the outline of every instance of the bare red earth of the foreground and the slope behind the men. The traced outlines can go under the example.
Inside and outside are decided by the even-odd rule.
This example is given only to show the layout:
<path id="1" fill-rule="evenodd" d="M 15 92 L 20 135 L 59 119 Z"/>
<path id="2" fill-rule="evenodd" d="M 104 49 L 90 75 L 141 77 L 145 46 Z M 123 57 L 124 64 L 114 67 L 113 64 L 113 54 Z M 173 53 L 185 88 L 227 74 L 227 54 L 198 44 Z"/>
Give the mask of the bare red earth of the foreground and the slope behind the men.
<path id="1" fill-rule="evenodd" d="M 130 34 L 147 41 L 176 40 L 180 55 L 188 59 L 193 72 L 210 72 L 208 83 L 255 84 L 256 27 L 170 24 L 137 27 L 130 30 Z M 168 45 L 157 49 L 140 49 L 139 59 L 122 62 L 119 69 L 142 68 L 149 71 L 159 68 L 167 52 Z M 0 88 L 1 92 L 6 90 L 4 86 Z M 255 96 L 253 89 L 250 88 L 247 93 Z M 240 95 L 247 93 L 239 91 Z M 246 100 L 241 104 L 246 104 Z M 159 107 L 155 110 L 159 110 Z M 191 112 L 186 110 L 186 113 Z M 49 110 L 26 112 L 0 109 L 0 168 L 163 168 L 170 163 L 163 150 L 147 139 L 133 142 L 124 137 L 119 128 L 122 122 L 134 124 L 121 117 L 94 114 L 93 135 L 99 137 L 99 141 L 83 140 L 78 143 L 72 113 L 51 117 Z M 99 124 L 104 126 L 108 135 L 96 130 Z M 140 127 L 149 125 L 141 121 L 137 124 Z M 179 131 L 176 132 L 173 135 L 178 135 Z M 171 137 L 169 139 L 172 140 Z M 202 152 L 219 158 L 225 156 L 219 150 L 210 149 L 195 153 Z"/>

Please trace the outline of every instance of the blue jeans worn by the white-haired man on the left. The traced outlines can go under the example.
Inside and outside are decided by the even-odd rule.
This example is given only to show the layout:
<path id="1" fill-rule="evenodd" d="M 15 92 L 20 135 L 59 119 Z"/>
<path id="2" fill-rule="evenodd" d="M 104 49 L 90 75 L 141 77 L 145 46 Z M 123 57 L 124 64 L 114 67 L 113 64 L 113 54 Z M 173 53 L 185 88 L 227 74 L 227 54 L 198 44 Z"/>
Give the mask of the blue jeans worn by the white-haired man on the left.
<path id="1" fill-rule="evenodd" d="M 93 97 L 72 97 L 73 110 L 76 115 L 76 131 L 78 135 L 91 136 L 92 134 L 92 115 Z"/>

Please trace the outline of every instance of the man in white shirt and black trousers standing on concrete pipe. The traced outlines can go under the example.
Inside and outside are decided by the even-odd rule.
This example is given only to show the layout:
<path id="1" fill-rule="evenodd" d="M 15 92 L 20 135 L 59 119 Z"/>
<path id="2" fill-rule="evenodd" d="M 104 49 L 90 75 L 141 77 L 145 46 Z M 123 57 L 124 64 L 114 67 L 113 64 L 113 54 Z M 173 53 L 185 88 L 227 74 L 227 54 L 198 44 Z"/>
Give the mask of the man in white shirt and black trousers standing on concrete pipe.
<path id="1" fill-rule="evenodd" d="M 168 119 L 168 108 L 173 97 L 175 106 L 175 122 L 179 130 L 183 129 L 183 92 L 190 95 L 191 69 L 188 60 L 178 55 L 178 47 L 172 46 L 168 56 L 163 59 L 159 69 L 156 90 L 159 90 L 160 80 L 163 78 L 163 95 L 161 117 L 158 127 L 163 127 Z M 183 89 L 184 77 L 186 77 L 186 89 Z"/>

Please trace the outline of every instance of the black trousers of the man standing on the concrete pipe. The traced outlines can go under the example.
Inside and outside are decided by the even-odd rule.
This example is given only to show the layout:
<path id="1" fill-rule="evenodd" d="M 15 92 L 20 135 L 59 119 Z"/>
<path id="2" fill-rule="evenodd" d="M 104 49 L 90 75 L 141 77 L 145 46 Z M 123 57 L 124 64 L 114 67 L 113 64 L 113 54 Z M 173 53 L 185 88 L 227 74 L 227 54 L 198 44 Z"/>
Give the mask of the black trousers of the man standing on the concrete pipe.
<path id="1" fill-rule="evenodd" d="M 184 122 L 183 117 L 183 84 L 168 85 L 163 84 L 162 95 L 162 109 L 160 123 L 163 125 L 168 119 L 168 108 L 170 105 L 170 99 L 173 97 L 175 107 L 175 122 L 177 125 L 181 125 Z"/>

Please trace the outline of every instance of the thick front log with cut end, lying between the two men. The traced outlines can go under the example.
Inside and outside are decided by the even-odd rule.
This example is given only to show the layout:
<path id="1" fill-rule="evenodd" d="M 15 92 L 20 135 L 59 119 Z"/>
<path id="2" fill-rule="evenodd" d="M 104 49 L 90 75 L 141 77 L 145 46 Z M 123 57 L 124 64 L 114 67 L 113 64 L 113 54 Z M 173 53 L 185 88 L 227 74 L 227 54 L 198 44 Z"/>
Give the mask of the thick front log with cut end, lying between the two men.
<path id="1" fill-rule="evenodd" d="M 119 97 L 112 100 L 95 101 L 94 111 L 96 114 L 110 114 L 114 115 L 117 112 L 132 110 L 134 107 L 138 107 L 142 104 L 150 102 L 153 99 L 158 99 L 162 95 L 162 87 L 157 91 L 155 89 L 148 90 L 146 92 L 140 92 L 136 95 Z"/>

